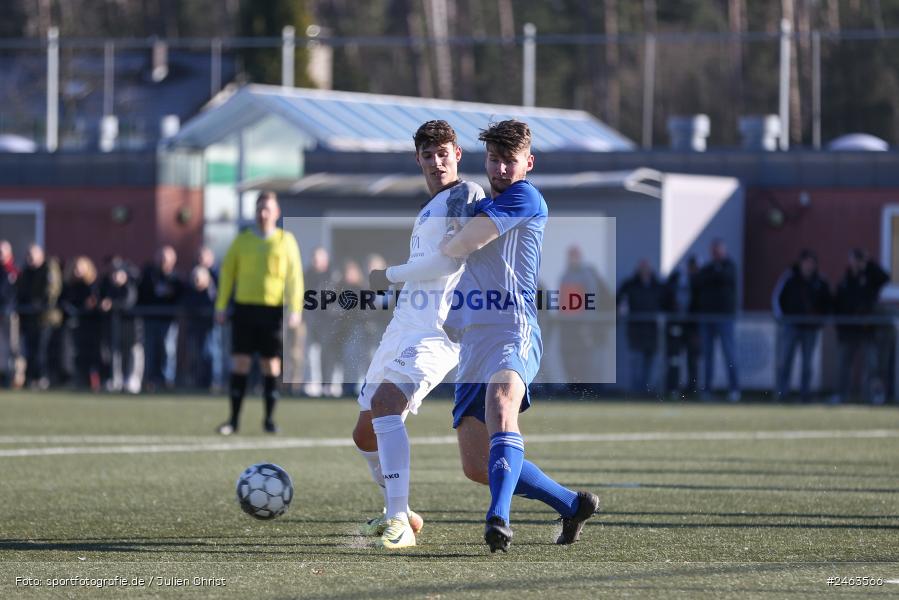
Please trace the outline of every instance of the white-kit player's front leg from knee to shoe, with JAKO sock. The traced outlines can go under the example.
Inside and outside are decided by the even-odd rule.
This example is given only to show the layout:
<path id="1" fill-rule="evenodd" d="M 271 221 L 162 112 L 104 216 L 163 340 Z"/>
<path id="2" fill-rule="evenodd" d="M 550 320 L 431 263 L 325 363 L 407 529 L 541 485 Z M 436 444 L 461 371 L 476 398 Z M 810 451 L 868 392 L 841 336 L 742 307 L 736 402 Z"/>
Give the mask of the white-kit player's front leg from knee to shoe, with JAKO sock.
<path id="1" fill-rule="evenodd" d="M 404 385 L 407 389 L 400 389 Z M 409 435 L 403 412 L 409 404 L 412 385 L 383 381 L 371 401 L 372 428 L 378 441 L 381 472 L 387 489 L 387 528 L 381 536 L 385 548 L 415 545 L 409 523 Z"/>

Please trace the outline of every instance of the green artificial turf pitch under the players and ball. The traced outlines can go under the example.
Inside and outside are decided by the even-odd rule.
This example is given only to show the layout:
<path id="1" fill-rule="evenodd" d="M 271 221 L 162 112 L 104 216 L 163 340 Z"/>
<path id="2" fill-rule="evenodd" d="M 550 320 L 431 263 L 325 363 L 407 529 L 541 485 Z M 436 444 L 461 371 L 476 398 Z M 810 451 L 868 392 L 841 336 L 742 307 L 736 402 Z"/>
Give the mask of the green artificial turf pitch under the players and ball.
<path id="1" fill-rule="evenodd" d="M 417 547 L 390 554 L 357 530 L 381 498 L 349 438 L 355 402 L 285 400 L 276 437 L 261 433 L 260 404 L 248 399 L 241 434 L 223 439 L 224 399 L 0 396 L 0 598 L 899 594 L 827 584 L 899 580 L 895 407 L 538 402 L 521 420 L 528 458 L 598 493 L 603 511 L 559 547 L 558 515 L 516 498 L 510 552 L 490 555 L 488 491 L 461 472 L 449 401 L 407 421 L 411 505 L 426 523 Z M 569 434 L 593 437 L 553 439 Z M 274 521 L 234 500 L 256 462 L 294 479 Z M 120 579 L 48 584 L 73 577 Z"/>

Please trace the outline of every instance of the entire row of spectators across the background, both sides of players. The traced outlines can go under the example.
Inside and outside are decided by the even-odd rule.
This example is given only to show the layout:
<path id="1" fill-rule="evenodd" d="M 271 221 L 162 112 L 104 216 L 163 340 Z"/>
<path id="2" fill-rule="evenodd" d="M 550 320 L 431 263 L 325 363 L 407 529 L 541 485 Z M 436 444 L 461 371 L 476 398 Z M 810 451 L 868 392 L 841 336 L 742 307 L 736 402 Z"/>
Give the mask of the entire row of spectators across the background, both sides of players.
<path id="1" fill-rule="evenodd" d="M 594 294 L 611 298 L 579 248 L 568 250 L 559 282 L 561 297 Z M 214 320 L 218 284 L 215 256 L 202 248 L 189 270 L 178 269 L 171 246 L 159 249 L 142 269 L 118 256 L 98 269 L 86 256 L 67 264 L 38 245 L 17 263 L 0 240 L 0 387 L 47 389 L 70 386 L 99 391 L 157 391 L 174 387 L 220 390 L 227 379 L 227 336 Z M 371 269 L 384 268 L 372 255 L 364 265 L 349 260 L 335 269 L 324 248 L 316 248 L 304 273 L 307 289 L 364 288 Z M 182 278 L 180 272 L 189 275 Z M 738 276 L 722 240 L 715 240 L 702 264 L 691 256 L 663 279 L 648 260 L 620 286 L 615 300 L 627 345 L 631 392 L 658 396 L 710 397 L 716 349 L 726 375 L 726 397 L 741 399 L 736 344 Z M 849 253 L 846 271 L 831 287 L 815 254 L 804 250 L 777 282 L 772 314 L 778 325 L 773 392 L 790 395 L 792 366 L 800 363 L 799 398 L 812 399 L 815 348 L 829 323 L 836 329 L 838 372 L 833 403 L 854 392 L 883 403 L 892 385 L 895 329 L 877 320 L 881 289 L 889 274 L 863 251 Z M 614 307 L 612 307 L 614 310 Z M 286 363 L 297 391 L 308 395 L 352 394 L 390 318 L 346 311 L 309 311 L 299 336 L 291 336 Z M 560 313 L 552 325 L 561 345 L 569 391 L 591 386 L 591 352 L 608 330 L 585 327 L 576 311 Z M 287 368 L 287 367 L 286 367 Z M 339 382 L 345 382 L 340 384 Z M 857 385 L 853 385 L 854 382 Z M 337 382 L 337 383 L 335 383 Z"/>

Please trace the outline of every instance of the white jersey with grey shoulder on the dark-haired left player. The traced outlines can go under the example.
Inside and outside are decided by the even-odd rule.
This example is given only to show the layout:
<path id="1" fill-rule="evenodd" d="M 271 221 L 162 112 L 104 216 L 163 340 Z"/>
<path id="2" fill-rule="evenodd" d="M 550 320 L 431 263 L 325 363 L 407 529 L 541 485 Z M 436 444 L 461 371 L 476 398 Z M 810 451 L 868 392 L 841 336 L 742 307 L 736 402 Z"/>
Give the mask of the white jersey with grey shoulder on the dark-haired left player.
<path id="1" fill-rule="evenodd" d="M 460 181 L 439 192 L 415 219 L 409 240 L 410 264 L 440 254 L 440 242 L 450 231 L 458 231 L 475 214 L 484 190 L 476 183 Z M 407 281 L 397 297 L 391 325 L 443 332 L 453 290 L 464 266 L 437 279 Z"/>

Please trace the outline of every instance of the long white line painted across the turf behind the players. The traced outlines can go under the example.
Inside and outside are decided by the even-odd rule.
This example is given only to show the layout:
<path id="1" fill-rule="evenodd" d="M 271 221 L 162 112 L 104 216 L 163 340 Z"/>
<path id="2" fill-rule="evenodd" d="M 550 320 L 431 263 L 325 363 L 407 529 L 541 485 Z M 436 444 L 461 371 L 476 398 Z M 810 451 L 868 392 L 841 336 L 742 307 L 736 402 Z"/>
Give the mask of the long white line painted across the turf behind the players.
<path id="1" fill-rule="evenodd" d="M 36 442 L 40 437 L 19 436 L 21 442 Z M 52 436 L 50 436 L 52 437 Z M 72 436 L 74 439 L 77 436 Z M 105 436 L 86 436 L 91 439 L 110 440 Z M 528 443 L 557 442 L 652 442 L 652 441 L 746 441 L 746 440 L 815 440 L 815 439 L 871 439 L 899 437 L 895 429 L 866 429 L 855 431 L 694 431 L 694 432 L 644 432 L 644 433 L 572 433 L 534 434 L 527 436 Z M 111 436 L 112 439 L 137 441 L 141 436 Z M 145 438 L 144 438 L 145 439 Z M 279 438 L 224 441 L 201 441 L 204 438 L 166 438 L 169 440 L 194 440 L 193 443 L 132 444 L 119 446 L 57 446 L 50 448 L 11 448 L 0 450 L 0 457 L 54 456 L 73 454 L 158 454 L 163 452 L 218 452 L 227 450 L 276 450 L 287 448 L 351 447 L 349 438 Z M 414 445 L 455 444 L 455 436 L 414 437 Z"/>

